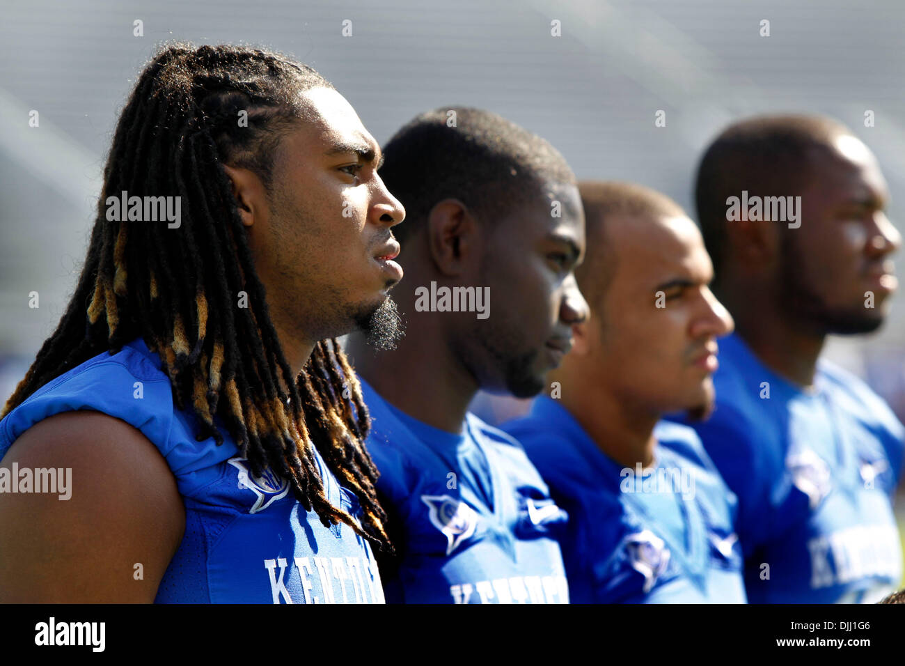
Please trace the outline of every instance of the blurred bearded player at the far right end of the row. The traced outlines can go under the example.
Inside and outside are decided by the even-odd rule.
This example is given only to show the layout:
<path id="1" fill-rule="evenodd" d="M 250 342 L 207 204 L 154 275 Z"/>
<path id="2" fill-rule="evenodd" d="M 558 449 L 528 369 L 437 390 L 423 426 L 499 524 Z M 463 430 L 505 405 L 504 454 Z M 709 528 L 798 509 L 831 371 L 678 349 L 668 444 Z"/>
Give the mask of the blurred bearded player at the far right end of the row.
<path id="1" fill-rule="evenodd" d="M 752 118 L 710 144 L 695 198 L 736 333 L 694 427 L 738 495 L 748 599 L 877 601 L 901 579 L 902 425 L 821 358 L 828 334 L 877 329 L 896 288 L 877 160 L 836 121 Z"/>

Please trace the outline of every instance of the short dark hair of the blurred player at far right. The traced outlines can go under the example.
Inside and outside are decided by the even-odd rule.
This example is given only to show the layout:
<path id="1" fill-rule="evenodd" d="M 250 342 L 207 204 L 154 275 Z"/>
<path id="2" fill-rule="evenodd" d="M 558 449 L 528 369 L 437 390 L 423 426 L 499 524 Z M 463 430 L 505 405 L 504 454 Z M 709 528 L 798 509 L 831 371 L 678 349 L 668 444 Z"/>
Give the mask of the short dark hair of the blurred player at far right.
<path id="1" fill-rule="evenodd" d="M 719 283 L 726 245 L 726 199 L 795 196 L 814 178 L 815 159 L 839 136 L 842 123 L 817 115 L 764 115 L 734 122 L 704 152 L 694 188 L 700 232 Z"/>

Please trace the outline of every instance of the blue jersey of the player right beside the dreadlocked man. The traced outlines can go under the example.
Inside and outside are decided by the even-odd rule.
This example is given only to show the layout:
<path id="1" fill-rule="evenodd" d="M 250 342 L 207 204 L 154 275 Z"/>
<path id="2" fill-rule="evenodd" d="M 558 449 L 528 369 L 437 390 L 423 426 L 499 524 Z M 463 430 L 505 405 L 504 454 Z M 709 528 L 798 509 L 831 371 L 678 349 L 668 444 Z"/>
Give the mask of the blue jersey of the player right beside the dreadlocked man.
<path id="1" fill-rule="evenodd" d="M 390 603 L 567 603 L 551 530 L 567 516 L 519 443 L 469 414 L 453 434 L 415 420 L 361 381 L 367 439 L 398 560 Z"/>

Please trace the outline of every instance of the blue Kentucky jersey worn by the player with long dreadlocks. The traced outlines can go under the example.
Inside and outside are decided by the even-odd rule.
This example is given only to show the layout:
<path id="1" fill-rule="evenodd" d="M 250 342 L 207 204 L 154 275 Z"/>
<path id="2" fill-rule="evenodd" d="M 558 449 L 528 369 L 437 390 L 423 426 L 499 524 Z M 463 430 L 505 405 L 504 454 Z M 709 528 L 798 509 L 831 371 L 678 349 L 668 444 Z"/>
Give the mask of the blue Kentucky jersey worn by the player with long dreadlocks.
<path id="1" fill-rule="evenodd" d="M 326 527 L 271 471 L 252 476 L 224 435 L 195 441 L 197 421 L 173 401 L 160 359 L 138 338 L 103 352 L 35 391 L 0 421 L 0 458 L 24 430 L 69 410 L 95 410 L 134 426 L 167 460 L 186 507 L 186 534 L 157 589 L 157 603 L 383 603 L 367 542 Z M 357 497 L 314 452 L 331 504 L 355 516 Z"/>

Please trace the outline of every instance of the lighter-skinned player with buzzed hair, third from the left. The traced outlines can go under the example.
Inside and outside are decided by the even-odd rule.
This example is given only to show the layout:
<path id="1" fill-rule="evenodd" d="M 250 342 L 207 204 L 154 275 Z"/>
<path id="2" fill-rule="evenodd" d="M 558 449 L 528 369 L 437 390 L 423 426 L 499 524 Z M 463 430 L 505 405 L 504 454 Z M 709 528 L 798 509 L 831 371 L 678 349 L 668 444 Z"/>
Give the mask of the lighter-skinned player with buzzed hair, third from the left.
<path id="1" fill-rule="evenodd" d="M 698 227 L 672 199 L 583 182 L 591 314 L 548 375 L 549 394 L 503 428 L 570 516 L 561 536 L 573 603 L 744 603 L 736 500 L 694 430 L 716 339 L 732 319 L 708 285 Z"/>

